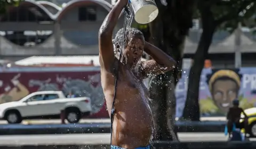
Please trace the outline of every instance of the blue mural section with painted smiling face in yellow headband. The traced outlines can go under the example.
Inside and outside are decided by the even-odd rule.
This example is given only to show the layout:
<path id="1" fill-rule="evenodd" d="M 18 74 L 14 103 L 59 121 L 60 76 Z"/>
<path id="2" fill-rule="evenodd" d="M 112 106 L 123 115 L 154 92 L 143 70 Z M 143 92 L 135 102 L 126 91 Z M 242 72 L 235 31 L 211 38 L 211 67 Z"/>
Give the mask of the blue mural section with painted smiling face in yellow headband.
<path id="1" fill-rule="evenodd" d="M 183 70 L 176 88 L 176 115 L 182 115 L 186 101 L 189 70 Z M 256 106 L 256 68 L 234 70 L 203 69 L 199 89 L 202 116 L 226 115 L 237 98 L 243 109 Z"/>

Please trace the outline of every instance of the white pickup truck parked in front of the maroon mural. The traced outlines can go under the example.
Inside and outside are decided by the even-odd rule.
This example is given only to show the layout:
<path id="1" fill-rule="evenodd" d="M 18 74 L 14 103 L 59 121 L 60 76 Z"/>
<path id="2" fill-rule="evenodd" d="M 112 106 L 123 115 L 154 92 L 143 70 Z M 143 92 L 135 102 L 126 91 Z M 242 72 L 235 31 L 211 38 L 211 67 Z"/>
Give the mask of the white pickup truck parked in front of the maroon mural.
<path id="1" fill-rule="evenodd" d="M 20 123 L 23 119 L 60 118 L 65 110 L 65 117 L 70 123 L 77 123 L 92 111 L 89 97 L 66 98 L 61 91 L 35 92 L 20 101 L 0 104 L 0 119 L 9 123 Z"/>

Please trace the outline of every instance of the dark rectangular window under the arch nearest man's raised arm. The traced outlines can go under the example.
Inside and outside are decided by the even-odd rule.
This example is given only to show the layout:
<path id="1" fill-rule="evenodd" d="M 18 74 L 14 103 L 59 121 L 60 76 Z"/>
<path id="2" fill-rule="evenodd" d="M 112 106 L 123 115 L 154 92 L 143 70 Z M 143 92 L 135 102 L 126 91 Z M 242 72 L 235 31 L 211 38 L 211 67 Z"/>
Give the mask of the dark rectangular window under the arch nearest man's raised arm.
<path id="1" fill-rule="evenodd" d="M 78 9 L 78 19 L 79 21 L 96 21 L 96 7 L 87 6 L 79 7 Z"/>

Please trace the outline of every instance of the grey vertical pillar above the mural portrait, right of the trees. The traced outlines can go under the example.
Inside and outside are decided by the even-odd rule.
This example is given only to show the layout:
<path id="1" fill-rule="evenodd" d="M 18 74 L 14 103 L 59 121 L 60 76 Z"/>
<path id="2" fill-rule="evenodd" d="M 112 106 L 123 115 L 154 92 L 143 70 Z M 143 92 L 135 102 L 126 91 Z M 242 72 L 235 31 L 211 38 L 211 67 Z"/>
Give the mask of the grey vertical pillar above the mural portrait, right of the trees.
<path id="1" fill-rule="evenodd" d="M 242 56 L 241 56 L 241 35 L 242 35 L 241 22 L 238 23 L 238 27 L 235 30 L 235 68 L 242 67 Z"/>

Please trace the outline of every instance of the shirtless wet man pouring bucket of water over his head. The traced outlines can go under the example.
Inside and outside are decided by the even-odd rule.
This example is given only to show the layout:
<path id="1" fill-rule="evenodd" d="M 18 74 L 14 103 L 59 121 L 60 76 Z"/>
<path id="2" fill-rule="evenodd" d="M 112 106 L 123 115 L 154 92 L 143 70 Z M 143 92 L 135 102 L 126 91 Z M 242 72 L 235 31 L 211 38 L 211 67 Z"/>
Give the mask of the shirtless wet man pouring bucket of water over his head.
<path id="1" fill-rule="evenodd" d="M 118 64 L 111 148 L 146 149 L 149 148 L 153 135 L 153 119 L 143 79 L 171 70 L 175 61 L 161 49 L 145 42 L 142 32 L 135 28 L 127 28 L 124 49 L 121 49 L 123 29 L 117 32 L 112 41 L 118 16 L 127 2 L 128 0 L 118 0 L 99 30 L 101 85 L 110 115 L 118 55 L 123 50 L 122 61 Z M 153 60 L 140 61 L 143 51 Z"/>

